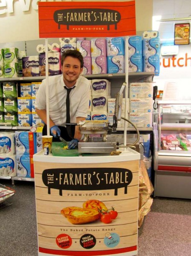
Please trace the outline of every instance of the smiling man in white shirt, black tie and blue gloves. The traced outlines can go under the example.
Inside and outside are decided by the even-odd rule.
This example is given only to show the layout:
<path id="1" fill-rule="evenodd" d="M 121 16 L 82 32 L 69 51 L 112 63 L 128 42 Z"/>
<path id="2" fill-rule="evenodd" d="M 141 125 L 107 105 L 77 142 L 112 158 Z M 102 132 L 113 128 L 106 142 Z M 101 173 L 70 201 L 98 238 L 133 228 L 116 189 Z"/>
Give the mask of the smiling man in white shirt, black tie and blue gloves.
<path id="1" fill-rule="evenodd" d="M 66 127 L 66 123 L 85 120 L 89 108 L 90 81 L 80 76 L 83 65 L 80 52 L 67 50 L 61 56 L 62 75 L 49 77 L 50 134 L 53 136 L 53 141 L 60 141 L 59 136 L 70 141 L 69 149 L 78 145 L 81 134 L 78 125 Z M 67 94 L 69 94 L 69 103 Z M 43 135 L 46 135 L 46 79 L 42 81 L 36 95 L 35 110 L 45 123 Z"/>

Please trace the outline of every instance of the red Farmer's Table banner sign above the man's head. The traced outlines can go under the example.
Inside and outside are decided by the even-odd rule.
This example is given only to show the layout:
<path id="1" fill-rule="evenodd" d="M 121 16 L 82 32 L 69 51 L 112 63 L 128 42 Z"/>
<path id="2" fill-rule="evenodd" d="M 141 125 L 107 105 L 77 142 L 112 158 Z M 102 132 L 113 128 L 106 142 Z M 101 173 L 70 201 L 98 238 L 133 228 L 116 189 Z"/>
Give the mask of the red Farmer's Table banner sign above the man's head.
<path id="1" fill-rule="evenodd" d="M 135 1 L 39 2 L 39 37 L 136 35 Z"/>

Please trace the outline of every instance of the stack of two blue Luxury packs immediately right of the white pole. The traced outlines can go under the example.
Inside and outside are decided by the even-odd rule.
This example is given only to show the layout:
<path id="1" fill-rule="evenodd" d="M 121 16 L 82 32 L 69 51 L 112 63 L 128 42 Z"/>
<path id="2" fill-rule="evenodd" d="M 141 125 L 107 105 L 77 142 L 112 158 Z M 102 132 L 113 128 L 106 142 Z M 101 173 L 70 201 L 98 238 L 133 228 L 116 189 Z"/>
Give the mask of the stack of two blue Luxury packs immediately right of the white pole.
<path id="1" fill-rule="evenodd" d="M 129 72 L 142 72 L 142 37 L 131 36 L 129 37 L 129 58 L 128 58 L 128 71 Z"/>

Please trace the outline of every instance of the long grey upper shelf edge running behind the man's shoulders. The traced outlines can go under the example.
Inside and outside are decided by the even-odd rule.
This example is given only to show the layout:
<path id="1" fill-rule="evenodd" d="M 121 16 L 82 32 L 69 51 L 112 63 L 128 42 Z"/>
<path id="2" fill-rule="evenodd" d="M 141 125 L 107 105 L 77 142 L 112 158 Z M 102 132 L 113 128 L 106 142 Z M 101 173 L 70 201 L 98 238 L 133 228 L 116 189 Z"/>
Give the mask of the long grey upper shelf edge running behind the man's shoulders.
<path id="1" fill-rule="evenodd" d="M 154 72 L 132 72 L 132 73 L 128 73 L 129 77 L 141 77 L 141 76 L 154 76 Z M 84 76 L 87 79 L 88 78 L 123 78 L 125 77 L 125 73 L 114 73 L 114 74 L 98 74 L 98 75 L 86 75 Z M 46 76 L 30 76 L 30 77 L 10 77 L 10 78 L 1 78 L 0 81 L 41 81 L 43 79 L 45 79 Z"/>

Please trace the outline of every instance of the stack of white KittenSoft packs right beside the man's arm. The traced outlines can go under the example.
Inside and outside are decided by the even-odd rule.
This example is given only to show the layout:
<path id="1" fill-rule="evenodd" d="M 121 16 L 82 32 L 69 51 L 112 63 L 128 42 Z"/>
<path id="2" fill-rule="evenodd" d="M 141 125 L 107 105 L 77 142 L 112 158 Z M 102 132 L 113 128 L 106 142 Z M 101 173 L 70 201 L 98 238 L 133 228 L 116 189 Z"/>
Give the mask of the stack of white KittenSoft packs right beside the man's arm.
<path id="1" fill-rule="evenodd" d="M 111 98 L 111 85 L 106 79 L 92 80 L 92 120 L 107 120 L 107 100 Z"/>

